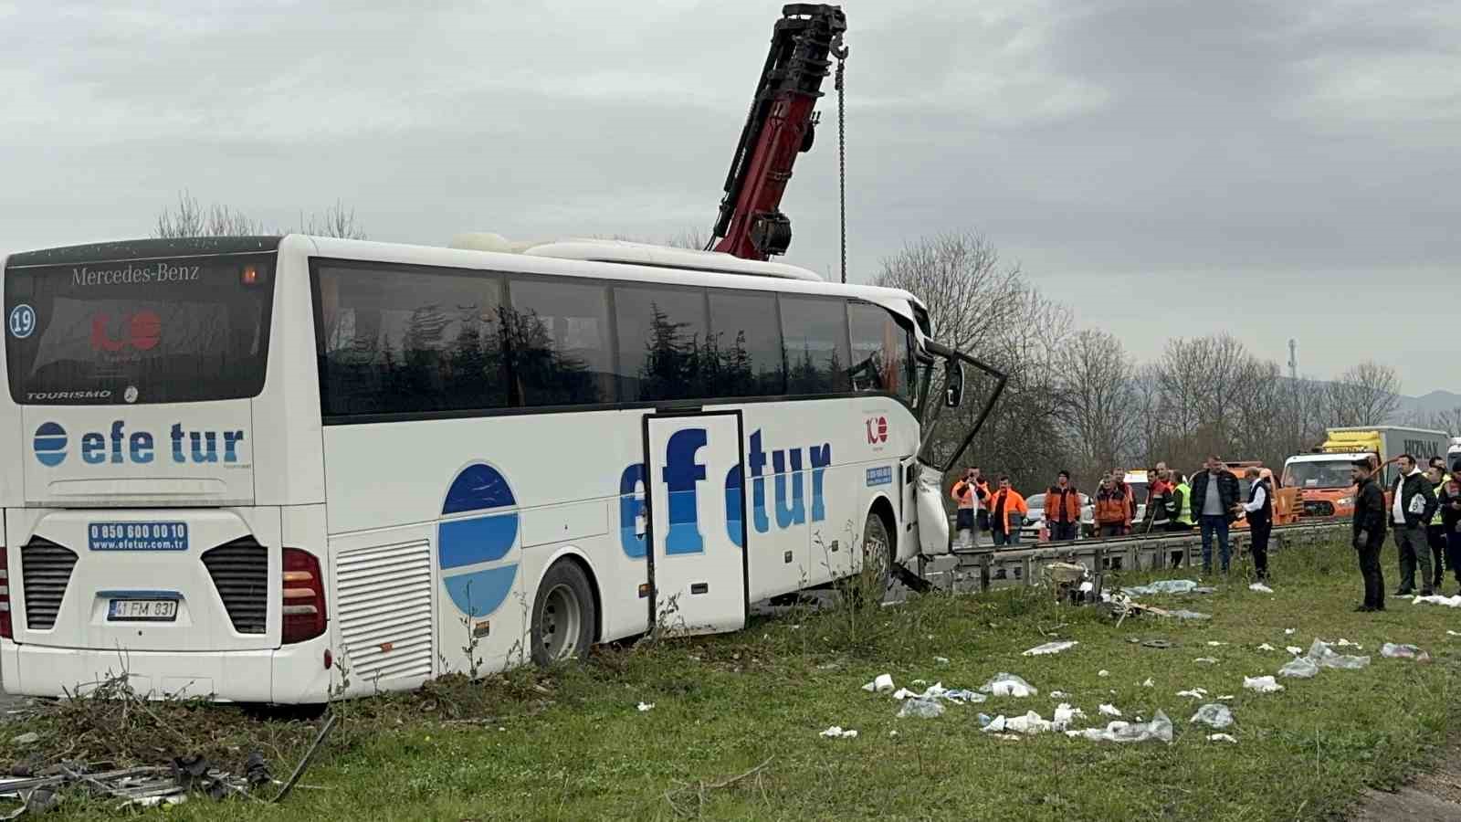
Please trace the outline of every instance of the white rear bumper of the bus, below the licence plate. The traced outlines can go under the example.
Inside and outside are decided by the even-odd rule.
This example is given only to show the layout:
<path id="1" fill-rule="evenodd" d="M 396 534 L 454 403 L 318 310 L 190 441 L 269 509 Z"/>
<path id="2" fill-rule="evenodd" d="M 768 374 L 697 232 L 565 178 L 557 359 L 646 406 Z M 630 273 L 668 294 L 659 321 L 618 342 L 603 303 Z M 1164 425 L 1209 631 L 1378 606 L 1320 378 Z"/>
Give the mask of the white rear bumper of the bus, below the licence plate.
<path id="1" fill-rule="evenodd" d="M 327 645 L 320 636 L 262 651 L 99 651 L 0 639 L 0 677 L 6 693 L 20 696 L 88 693 L 126 674 L 136 693 L 152 699 L 317 704 L 330 692 Z"/>

